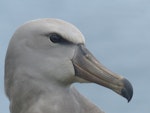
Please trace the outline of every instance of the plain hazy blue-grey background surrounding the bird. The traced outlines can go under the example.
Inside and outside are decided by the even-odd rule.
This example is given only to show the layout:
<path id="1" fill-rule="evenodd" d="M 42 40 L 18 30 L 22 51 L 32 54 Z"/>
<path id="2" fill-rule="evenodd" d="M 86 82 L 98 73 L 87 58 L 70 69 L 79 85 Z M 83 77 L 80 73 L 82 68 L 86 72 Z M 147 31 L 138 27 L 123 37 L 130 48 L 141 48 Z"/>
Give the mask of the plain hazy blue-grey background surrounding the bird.
<path id="1" fill-rule="evenodd" d="M 96 84 L 74 84 L 106 113 L 150 112 L 149 0 L 1 0 L 0 1 L 0 113 L 9 113 L 4 92 L 4 59 L 11 36 L 23 23 L 59 18 L 84 34 L 87 48 L 107 68 L 133 85 L 130 103 Z"/>

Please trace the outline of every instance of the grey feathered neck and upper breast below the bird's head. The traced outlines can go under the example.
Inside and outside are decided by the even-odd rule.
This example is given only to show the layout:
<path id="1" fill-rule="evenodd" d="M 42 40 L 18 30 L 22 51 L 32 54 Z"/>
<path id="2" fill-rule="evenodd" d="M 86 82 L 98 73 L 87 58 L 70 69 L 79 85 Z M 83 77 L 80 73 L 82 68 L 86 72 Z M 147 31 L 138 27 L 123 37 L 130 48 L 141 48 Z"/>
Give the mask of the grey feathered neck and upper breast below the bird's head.
<path id="1" fill-rule="evenodd" d="M 71 85 L 31 81 L 27 79 L 18 85 L 18 93 L 12 100 L 12 113 L 93 113 L 93 109 L 98 109 Z"/>

